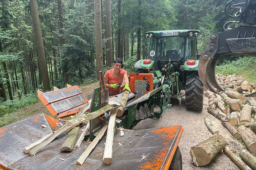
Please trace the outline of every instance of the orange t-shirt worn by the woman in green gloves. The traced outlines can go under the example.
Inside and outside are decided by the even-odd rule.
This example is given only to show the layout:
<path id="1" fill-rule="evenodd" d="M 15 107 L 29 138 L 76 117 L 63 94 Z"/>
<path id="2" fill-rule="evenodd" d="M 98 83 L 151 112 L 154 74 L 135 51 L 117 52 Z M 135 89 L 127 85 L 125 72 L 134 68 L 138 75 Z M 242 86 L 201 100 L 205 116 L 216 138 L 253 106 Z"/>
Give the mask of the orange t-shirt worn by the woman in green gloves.
<path id="1" fill-rule="evenodd" d="M 127 71 L 126 70 L 123 70 L 123 69 L 120 69 L 120 73 L 119 73 L 119 76 L 118 77 L 114 77 L 113 76 L 113 70 L 114 68 L 112 68 L 111 70 L 108 70 L 105 75 L 104 75 L 104 78 L 108 79 L 108 84 L 119 84 L 119 88 L 108 88 L 108 93 L 109 94 L 113 94 L 113 95 L 117 95 L 120 93 L 120 88 L 121 88 L 121 85 L 123 83 L 123 76 L 124 74 L 127 74 Z"/>

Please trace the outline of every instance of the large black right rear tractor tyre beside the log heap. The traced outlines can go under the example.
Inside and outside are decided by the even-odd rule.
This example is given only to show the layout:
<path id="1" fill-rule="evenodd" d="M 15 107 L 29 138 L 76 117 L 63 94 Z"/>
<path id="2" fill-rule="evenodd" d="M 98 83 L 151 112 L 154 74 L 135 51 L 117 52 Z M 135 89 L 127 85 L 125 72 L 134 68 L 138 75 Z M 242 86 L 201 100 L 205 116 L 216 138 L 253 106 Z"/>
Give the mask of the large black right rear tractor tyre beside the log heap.
<path id="1" fill-rule="evenodd" d="M 187 75 L 185 90 L 186 108 L 193 110 L 202 110 L 203 83 L 201 82 L 197 72 L 192 72 Z"/>

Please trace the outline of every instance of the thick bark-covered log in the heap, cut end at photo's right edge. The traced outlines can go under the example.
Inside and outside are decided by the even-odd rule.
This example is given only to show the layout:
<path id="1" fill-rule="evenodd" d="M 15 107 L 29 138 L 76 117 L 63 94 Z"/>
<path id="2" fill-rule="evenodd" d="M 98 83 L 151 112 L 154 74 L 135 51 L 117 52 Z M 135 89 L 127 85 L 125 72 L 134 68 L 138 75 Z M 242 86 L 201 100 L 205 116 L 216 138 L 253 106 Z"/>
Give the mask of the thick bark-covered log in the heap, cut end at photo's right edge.
<path id="1" fill-rule="evenodd" d="M 244 125 L 238 127 L 238 132 L 242 135 L 242 141 L 245 143 L 247 149 L 252 153 L 256 154 L 256 135 L 250 129 Z"/>

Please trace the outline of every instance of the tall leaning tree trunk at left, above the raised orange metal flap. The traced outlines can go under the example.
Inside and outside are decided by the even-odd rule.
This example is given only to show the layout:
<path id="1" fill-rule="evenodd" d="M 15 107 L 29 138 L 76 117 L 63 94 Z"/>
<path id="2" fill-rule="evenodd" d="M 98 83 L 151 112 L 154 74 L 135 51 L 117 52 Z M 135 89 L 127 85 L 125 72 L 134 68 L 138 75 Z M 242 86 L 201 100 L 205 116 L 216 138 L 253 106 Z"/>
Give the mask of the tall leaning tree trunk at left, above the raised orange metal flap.
<path id="1" fill-rule="evenodd" d="M 37 9 L 37 2 L 36 0 L 30 0 L 30 9 L 31 9 L 31 16 L 33 20 L 33 26 L 34 26 L 34 34 L 36 39 L 36 47 L 37 47 L 37 60 L 38 60 L 38 68 L 40 69 L 40 76 L 43 81 L 43 89 L 44 91 L 50 90 L 50 81 L 49 81 L 49 75 L 47 71 L 47 65 L 46 65 L 46 58 L 44 53 L 44 46 L 43 46 L 43 38 L 42 38 L 42 32 L 40 28 L 40 21 L 39 21 L 39 15 L 38 15 L 38 9 Z"/>

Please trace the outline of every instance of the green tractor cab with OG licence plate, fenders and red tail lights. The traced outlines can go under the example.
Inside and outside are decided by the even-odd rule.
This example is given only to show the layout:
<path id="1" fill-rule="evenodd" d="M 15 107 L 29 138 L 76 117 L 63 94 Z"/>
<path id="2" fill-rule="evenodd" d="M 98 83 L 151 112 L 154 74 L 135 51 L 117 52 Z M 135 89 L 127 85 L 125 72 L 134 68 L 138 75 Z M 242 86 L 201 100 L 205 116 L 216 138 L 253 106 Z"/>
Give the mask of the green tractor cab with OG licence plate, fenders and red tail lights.
<path id="1" fill-rule="evenodd" d="M 164 64 L 174 63 L 178 67 L 191 65 L 188 70 L 194 70 L 198 66 L 197 35 L 198 30 L 169 30 L 150 31 L 146 37 L 150 38 L 149 54 L 146 60 L 139 60 L 135 68 L 139 72 L 146 70 L 161 70 Z M 193 66 L 192 66 L 192 64 Z M 138 72 L 137 72 L 138 73 Z"/>

